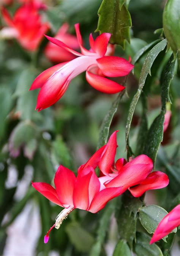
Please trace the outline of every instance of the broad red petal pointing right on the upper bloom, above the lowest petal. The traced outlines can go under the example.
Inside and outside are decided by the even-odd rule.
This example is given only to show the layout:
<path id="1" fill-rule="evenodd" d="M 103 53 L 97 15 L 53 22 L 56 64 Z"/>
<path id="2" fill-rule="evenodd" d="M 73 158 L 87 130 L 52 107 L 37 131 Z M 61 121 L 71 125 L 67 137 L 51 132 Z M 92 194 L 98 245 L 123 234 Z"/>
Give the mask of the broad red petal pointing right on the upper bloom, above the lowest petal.
<path id="1" fill-rule="evenodd" d="M 98 66 L 105 76 L 126 76 L 133 69 L 133 65 L 125 58 L 105 56 L 97 59 Z"/>

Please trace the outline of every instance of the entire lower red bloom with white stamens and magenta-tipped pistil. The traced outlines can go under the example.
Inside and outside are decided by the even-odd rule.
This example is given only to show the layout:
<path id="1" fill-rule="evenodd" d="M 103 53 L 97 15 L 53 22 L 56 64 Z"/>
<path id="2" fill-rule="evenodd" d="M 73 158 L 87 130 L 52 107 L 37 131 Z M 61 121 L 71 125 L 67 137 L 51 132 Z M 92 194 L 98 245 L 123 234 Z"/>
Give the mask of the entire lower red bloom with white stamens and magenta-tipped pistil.
<path id="1" fill-rule="evenodd" d="M 152 160 L 146 155 L 139 155 L 129 162 L 120 158 L 114 164 L 117 149 L 115 131 L 106 145 L 98 149 L 94 155 L 77 170 L 77 177 L 69 169 L 59 166 L 54 177 L 55 189 L 43 182 L 32 183 L 32 186 L 50 201 L 65 209 L 57 216 L 52 228 L 59 228 L 62 221 L 75 208 L 96 213 L 106 203 L 129 190 L 135 197 L 145 191 L 164 188 L 169 179 L 160 171 L 152 172 Z M 101 171 L 97 177 L 95 168 Z M 44 242 L 49 239 L 49 232 Z"/>

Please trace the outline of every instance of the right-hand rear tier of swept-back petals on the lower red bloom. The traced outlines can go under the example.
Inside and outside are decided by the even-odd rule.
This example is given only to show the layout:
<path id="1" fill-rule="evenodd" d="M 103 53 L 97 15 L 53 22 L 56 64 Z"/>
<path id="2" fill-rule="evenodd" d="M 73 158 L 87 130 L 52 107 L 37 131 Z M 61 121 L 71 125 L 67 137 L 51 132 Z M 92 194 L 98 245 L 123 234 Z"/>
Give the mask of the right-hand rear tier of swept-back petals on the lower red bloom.
<path id="1" fill-rule="evenodd" d="M 153 169 L 153 163 L 147 155 L 139 155 L 128 163 L 120 158 L 113 166 L 117 148 L 117 132 L 112 133 L 101 156 L 96 152 L 97 165 L 104 175 L 99 178 L 101 188 L 120 186 L 122 192 L 128 189 L 134 197 L 139 197 L 147 190 L 167 186 L 169 179 L 165 173 L 160 171 L 150 173 Z"/>

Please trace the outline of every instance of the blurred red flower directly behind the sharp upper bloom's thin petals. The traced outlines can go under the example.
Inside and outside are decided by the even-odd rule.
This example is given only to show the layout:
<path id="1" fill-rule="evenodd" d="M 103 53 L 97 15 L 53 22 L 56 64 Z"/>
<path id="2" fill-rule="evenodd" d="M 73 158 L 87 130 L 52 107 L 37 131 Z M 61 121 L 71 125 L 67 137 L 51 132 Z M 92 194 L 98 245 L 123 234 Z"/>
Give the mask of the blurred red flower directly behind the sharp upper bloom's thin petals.
<path id="1" fill-rule="evenodd" d="M 63 43 L 67 44 L 71 49 L 79 49 L 79 43 L 77 41 L 76 36 L 67 33 L 68 28 L 69 25 L 67 23 L 64 23 L 62 27 L 60 27 L 54 38 L 61 40 Z M 44 53 L 49 60 L 56 63 L 65 62 L 76 58 L 76 56 L 71 52 L 68 52 L 65 49 L 51 42 L 47 44 Z"/>

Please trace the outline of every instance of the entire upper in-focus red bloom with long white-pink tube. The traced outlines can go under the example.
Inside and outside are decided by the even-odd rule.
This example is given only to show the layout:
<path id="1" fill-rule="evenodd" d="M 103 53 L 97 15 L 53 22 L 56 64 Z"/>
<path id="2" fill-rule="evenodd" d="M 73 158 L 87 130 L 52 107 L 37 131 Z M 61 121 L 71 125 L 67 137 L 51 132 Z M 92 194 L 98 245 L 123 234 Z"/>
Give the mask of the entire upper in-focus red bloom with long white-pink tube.
<path id="1" fill-rule="evenodd" d="M 38 111 L 58 101 L 65 93 L 69 82 L 84 71 L 86 71 L 87 82 L 100 92 L 117 93 L 125 88 L 105 77 L 126 76 L 133 69 L 133 65 L 124 58 L 105 56 L 111 34 L 102 33 L 95 40 L 90 34 L 89 43 L 91 48 L 88 51 L 82 46 L 79 24 L 75 24 L 75 30 L 81 53 L 74 51 L 56 38 L 46 36 L 51 43 L 78 57 L 68 63 L 65 62 L 53 66 L 36 77 L 30 90 L 41 88 L 36 105 Z"/>

